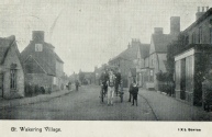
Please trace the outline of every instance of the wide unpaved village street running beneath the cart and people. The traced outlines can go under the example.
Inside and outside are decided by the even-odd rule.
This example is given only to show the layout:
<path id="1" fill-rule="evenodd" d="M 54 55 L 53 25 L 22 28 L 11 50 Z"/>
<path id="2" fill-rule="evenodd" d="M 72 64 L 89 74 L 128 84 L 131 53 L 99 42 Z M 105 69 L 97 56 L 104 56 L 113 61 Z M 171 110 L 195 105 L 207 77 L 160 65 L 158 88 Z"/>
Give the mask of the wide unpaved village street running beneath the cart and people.
<path id="1" fill-rule="evenodd" d="M 63 121 L 156 121 L 147 102 L 138 96 L 138 106 L 114 96 L 114 105 L 100 103 L 98 85 L 82 85 L 79 91 L 54 98 L 48 102 L 1 109 L 1 119 L 63 119 Z M 107 99 L 107 98 L 105 98 Z"/>

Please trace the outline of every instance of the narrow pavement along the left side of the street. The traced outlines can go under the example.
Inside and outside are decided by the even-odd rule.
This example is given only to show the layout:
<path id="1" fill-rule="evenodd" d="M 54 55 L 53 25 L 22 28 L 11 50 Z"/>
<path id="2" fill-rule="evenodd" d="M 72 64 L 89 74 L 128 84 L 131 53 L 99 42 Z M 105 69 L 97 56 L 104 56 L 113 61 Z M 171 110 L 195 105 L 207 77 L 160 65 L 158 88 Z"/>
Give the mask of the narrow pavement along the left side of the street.
<path id="1" fill-rule="evenodd" d="M 54 98 L 66 95 L 70 93 L 71 91 L 72 90 L 62 90 L 62 91 L 53 92 L 51 94 L 38 94 L 36 96 L 11 99 L 11 100 L 0 99 L 0 109 L 14 107 L 19 105 L 27 105 L 27 104 L 33 104 L 37 102 L 47 102 Z"/>

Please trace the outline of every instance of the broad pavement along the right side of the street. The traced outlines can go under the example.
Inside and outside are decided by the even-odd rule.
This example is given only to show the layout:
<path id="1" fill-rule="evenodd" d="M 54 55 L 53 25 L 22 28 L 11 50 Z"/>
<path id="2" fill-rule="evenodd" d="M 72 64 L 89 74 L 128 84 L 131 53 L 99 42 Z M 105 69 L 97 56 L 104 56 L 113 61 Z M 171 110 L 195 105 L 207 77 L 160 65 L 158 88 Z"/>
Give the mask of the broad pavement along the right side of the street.
<path id="1" fill-rule="evenodd" d="M 145 89 L 140 89 L 138 94 L 148 102 L 158 121 L 212 121 L 212 112 L 205 112 L 201 106 Z"/>

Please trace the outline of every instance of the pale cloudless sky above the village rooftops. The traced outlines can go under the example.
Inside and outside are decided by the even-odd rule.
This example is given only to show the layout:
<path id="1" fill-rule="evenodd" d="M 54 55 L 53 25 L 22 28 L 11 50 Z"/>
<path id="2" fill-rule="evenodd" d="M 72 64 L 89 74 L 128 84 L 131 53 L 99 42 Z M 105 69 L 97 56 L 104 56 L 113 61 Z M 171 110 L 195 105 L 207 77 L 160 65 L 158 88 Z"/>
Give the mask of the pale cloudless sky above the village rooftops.
<path id="1" fill-rule="evenodd" d="M 45 31 L 45 42 L 55 46 L 67 75 L 79 69 L 93 71 L 94 66 L 107 64 L 126 49 L 132 38 L 149 43 L 154 27 L 164 27 L 164 33 L 169 33 L 170 16 L 180 16 L 183 31 L 194 22 L 198 7 L 211 8 L 212 2 L 0 0 L 0 37 L 15 35 L 22 52 L 32 39 L 32 31 Z"/>

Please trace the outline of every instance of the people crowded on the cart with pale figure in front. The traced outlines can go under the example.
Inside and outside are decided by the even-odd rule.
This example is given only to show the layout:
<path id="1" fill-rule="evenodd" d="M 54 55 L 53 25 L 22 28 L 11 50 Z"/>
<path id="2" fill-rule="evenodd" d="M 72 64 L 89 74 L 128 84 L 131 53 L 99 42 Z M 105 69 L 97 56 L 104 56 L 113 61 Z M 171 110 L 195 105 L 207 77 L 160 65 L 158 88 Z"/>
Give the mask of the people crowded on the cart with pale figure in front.
<path id="1" fill-rule="evenodd" d="M 108 93 L 108 105 L 113 105 L 114 92 L 118 96 L 119 88 L 121 87 L 121 73 L 119 69 L 104 70 L 100 80 L 104 96 Z"/>

